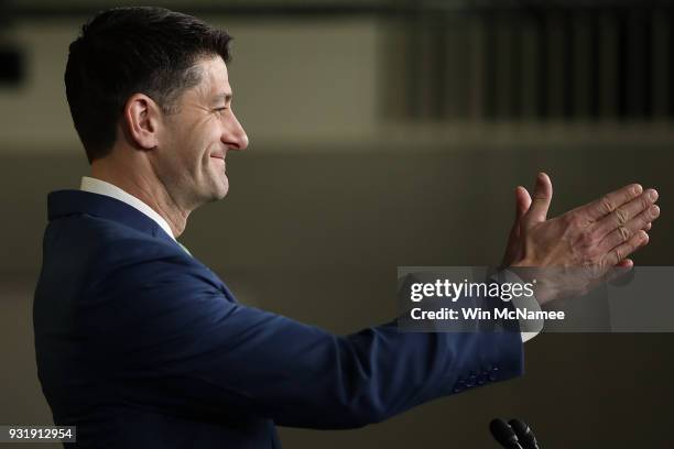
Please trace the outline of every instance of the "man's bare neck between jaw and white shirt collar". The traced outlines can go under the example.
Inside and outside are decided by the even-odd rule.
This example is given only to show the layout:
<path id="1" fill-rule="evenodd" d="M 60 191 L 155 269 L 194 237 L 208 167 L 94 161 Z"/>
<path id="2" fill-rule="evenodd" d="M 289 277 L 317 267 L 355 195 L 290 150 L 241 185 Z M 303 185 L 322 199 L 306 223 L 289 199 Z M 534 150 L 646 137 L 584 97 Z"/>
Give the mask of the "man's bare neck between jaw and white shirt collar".
<path id="1" fill-rule="evenodd" d="M 166 220 L 177 239 L 185 230 L 192 210 L 181 207 L 171 196 L 146 160 L 132 161 L 129 157 L 124 162 L 124 157 L 116 157 L 115 153 L 91 162 L 91 176 L 116 185 L 150 206 Z"/>

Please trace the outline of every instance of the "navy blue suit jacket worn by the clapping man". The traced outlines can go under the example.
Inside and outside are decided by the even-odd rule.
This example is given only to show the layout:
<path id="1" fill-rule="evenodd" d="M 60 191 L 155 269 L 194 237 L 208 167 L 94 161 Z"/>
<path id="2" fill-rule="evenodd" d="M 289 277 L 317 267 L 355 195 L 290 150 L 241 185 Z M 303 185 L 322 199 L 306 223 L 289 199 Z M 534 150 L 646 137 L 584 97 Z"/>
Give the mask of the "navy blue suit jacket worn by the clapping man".
<path id="1" fill-rule="evenodd" d="M 48 196 L 33 310 L 39 377 L 80 448 L 278 448 L 522 372 L 518 332 L 335 336 L 240 305 L 152 219 Z"/>

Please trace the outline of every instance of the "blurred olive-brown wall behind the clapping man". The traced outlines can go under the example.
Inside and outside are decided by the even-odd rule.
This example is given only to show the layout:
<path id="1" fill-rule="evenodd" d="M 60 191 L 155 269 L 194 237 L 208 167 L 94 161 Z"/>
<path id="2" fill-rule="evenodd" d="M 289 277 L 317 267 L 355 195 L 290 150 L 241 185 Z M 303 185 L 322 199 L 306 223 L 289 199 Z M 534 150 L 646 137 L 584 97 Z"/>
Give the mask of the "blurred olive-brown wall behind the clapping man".
<path id="1" fill-rule="evenodd" d="M 63 73 L 81 23 L 113 6 L 0 1 L 0 424 L 52 423 L 31 324 L 45 199 L 88 173 Z M 672 264 L 666 2 L 162 6 L 236 39 L 233 105 L 251 144 L 228 164 L 228 197 L 195 212 L 181 240 L 241 302 L 339 333 L 388 320 L 396 266 L 498 263 L 513 189 L 539 171 L 555 187 L 551 216 L 631 182 L 657 188 L 662 216 L 634 259 Z M 522 379 L 359 430 L 281 437 L 289 448 L 487 448 L 491 418 L 520 416 L 545 448 L 671 447 L 673 343 L 541 335 Z"/>

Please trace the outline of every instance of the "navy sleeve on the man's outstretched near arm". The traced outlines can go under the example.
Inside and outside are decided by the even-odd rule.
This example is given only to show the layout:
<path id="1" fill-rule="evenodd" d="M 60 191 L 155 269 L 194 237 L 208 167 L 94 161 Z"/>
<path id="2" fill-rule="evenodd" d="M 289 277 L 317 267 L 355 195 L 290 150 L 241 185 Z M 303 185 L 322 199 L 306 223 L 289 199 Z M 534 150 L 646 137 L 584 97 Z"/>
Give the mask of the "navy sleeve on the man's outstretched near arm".
<path id="1" fill-rule="evenodd" d="M 118 266 L 83 297 L 87 354 L 119 401 L 354 428 L 522 373 L 519 332 L 335 336 L 231 302 L 184 258 Z"/>

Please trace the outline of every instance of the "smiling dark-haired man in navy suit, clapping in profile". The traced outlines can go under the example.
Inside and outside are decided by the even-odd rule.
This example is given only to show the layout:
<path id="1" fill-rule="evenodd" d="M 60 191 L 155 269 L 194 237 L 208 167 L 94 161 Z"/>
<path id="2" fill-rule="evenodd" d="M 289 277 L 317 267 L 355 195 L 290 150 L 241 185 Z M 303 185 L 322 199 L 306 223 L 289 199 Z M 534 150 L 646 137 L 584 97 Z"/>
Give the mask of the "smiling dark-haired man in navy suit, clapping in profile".
<path id="1" fill-rule="evenodd" d="M 354 428 L 522 373 L 519 332 L 346 337 L 239 305 L 176 241 L 228 190 L 246 150 L 229 36 L 156 8 L 116 9 L 69 48 L 66 94 L 91 164 L 48 196 L 35 291 L 39 376 L 81 448 L 272 448 L 274 425 Z M 654 196 L 651 196 L 654 195 Z M 517 190 L 506 264 L 631 266 L 656 194 L 627 186 L 546 220 L 552 185 Z"/>

